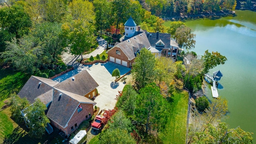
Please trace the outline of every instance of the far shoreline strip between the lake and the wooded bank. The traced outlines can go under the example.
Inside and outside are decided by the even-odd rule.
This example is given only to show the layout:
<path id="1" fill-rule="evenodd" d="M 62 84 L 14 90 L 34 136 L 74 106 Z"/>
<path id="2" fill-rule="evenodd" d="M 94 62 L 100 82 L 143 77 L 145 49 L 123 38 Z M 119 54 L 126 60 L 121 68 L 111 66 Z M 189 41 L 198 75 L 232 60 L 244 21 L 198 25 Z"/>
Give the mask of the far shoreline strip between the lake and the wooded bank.
<path id="1" fill-rule="evenodd" d="M 220 11 L 219 13 L 214 13 L 214 12 L 206 12 L 206 13 L 202 13 L 202 14 L 197 14 L 197 15 L 181 15 L 181 16 L 173 16 L 170 18 L 163 18 L 163 20 L 188 20 L 188 19 L 192 19 L 192 18 L 219 18 L 221 16 L 228 16 L 228 15 L 233 15 L 235 16 L 235 11 L 228 11 L 228 12 L 224 12 L 224 11 Z"/>

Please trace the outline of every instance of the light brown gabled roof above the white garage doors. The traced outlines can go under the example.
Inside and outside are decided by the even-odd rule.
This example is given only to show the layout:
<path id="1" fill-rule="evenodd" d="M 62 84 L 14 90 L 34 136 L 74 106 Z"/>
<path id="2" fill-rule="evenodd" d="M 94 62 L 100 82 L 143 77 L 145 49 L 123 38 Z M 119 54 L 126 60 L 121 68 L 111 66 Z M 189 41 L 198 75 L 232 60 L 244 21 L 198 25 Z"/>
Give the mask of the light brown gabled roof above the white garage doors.
<path id="1" fill-rule="evenodd" d="M 124 54 L 127 56 L 128 60 L 132 60 L 135 58 L 136 51 L 134 50 L 137 50 L 137 49 L 141 50 L 143 46 L 145 48 L 150 47 L 150 43 L 148 41 L 148 38 L 145 32 L 142 32 L 141 34 L 133 36 L 128 40 L 124 40 L 123 42 L 116 44 L 116 46 L 114 46 L 113 48 L 115 47 L 120 48 L 122 52 L 124 52 Z M 110 50 L 112 50 L 113 48 L 111 48 Z"/>

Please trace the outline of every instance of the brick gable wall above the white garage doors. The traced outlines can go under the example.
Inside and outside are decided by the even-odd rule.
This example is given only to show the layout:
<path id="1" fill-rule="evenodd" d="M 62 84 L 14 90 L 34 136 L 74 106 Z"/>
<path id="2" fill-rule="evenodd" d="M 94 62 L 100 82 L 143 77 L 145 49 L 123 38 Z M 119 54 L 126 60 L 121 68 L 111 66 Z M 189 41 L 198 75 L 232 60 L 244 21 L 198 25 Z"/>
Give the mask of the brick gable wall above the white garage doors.
<path id="1" fill-rule="evenodd" d="M 116 50 L 119 50 L 121 52 L 120 55 L 116 54 Z M 122 60 L 126 61 L 128 68 L 131 66 L 132 62 L 134 61 L 134 60 L 128 60 L 128 58 L 124 54 L 124 52 L 118 47 L 114 47 L 114 48 L 112 48 L 111 50 L 108 51 L 108 61 L 110 61 L 110 56 L 115 58 L 115 63 L 116 63 L 116 58 L 120 59 L 121 60 L 121 65 L 122 65 Z"/>

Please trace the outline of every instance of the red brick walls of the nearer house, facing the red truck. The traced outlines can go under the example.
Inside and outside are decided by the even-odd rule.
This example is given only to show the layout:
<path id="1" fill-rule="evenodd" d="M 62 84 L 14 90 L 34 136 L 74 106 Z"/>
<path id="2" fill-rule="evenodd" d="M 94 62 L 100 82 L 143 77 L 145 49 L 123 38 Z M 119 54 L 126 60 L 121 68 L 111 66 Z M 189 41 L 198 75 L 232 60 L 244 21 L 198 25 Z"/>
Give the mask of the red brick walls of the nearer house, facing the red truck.
<path id="1" fill-rule="evenodd" d="M 59 126 L 56 122 L 51 121 L 51 124 L 55 126 L 56 128 L 62 130 L 65 132 L 66 135 L 72 134 L 78 126 L 86 119 L 90 118 L 93 115 L 93 105 L 92 104 L 81 104 L 82 105 L 82 111 L 78 112 L 77 110 L 74 112 L 72 118 L 68 122 L 68 126 L 66 128 L 62 128 Z M 89 116 L 90 113 L 90 116 Z M 77 124 L 77 127 L 75 127 L 75 124 Z M 73 126 L 73 130 L 71 129 Z"/>

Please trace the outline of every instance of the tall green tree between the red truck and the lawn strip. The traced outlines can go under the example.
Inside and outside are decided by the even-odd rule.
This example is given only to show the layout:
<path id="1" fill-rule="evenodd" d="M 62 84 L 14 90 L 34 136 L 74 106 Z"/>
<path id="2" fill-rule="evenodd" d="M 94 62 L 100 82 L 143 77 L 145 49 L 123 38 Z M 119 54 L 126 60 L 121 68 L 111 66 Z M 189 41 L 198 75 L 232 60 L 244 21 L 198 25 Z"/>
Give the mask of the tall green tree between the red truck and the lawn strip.
<path id="1" fill-rule="evenodd" d="M 160 94 L 160 88 L 155 83 L 147 84 L 140 89 L 136 98 L 134 119 L 145 126 L 145 135 L 148 130 L 158 130 L 166 123 L 164 98 Z"/>

